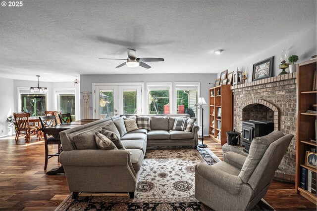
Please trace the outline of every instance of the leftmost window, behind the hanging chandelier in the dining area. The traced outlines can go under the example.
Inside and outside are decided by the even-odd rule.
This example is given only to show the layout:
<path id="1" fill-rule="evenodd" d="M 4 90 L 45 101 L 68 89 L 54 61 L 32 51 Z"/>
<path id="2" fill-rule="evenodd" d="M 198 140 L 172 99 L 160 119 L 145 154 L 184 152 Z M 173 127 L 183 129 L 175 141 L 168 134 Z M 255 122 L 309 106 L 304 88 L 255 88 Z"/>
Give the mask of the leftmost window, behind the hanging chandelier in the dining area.
<path id="1" fill-rule="evenodd" d="M 31 93 L 30 88 L 18 87 L 18 111 L 28 112 L 31 116 L 45 116 L 46 108 L 46 93 Z"/>

